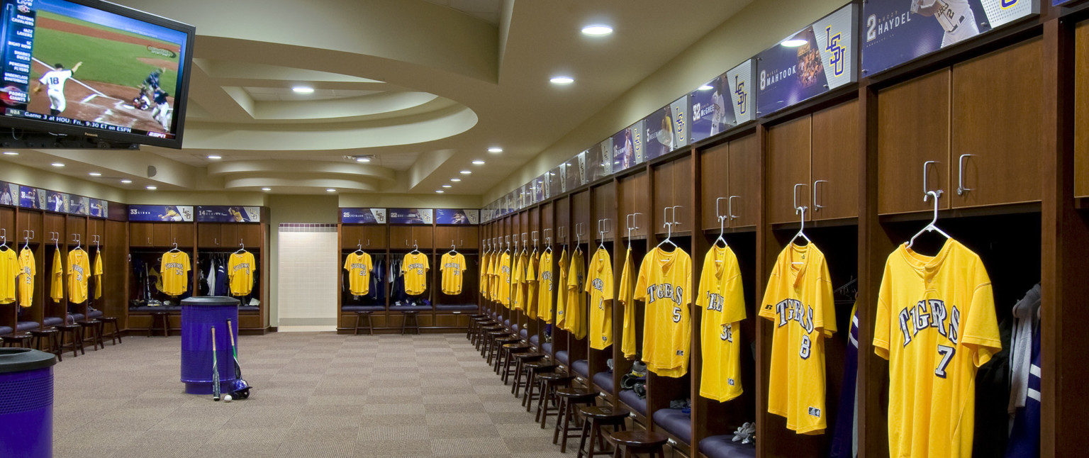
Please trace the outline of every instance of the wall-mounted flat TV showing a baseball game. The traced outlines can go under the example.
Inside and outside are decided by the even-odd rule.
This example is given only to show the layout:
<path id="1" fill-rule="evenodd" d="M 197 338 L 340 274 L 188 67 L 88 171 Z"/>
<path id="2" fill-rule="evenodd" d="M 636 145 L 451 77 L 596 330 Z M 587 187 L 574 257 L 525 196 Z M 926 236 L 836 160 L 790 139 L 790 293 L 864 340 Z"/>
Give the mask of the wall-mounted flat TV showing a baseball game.
<path id="1" fill-rule="evenodd" d="M 144 15 L 134 10 L 87 3 L 127 15 L 83 2 L 0 0 L 4 116 L 174 146 L 156 139 L 180 137 L 184 103 L 178 102 L 187 91 L 192 27 L 170 28 L 129 17 Z"/>

